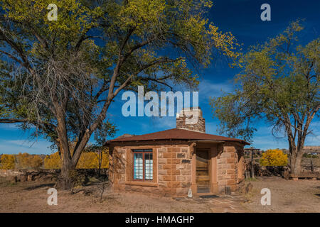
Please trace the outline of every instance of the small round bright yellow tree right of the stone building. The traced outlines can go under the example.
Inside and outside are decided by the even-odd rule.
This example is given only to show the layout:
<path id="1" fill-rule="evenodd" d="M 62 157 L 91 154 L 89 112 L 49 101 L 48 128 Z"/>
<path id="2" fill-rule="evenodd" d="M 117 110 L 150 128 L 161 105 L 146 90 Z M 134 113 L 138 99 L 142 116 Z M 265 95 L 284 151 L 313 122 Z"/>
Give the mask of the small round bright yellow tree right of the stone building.
<path id="1" fill-rule="evenodd" d="M 262 154 L 260 165 L 263 166 L 285 166 L 288 164 L 288 157 L 282 150 L 267 150 Z"/>

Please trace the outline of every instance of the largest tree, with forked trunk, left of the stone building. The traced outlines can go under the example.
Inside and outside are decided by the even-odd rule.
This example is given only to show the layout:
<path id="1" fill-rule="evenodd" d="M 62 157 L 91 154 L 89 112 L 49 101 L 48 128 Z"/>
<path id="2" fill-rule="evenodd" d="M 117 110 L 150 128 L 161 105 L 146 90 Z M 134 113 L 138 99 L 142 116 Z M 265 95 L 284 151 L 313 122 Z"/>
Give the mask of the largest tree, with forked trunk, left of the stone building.
<path id="1" fill-rule="evenodd" d="M 208 0 L 61 0 L 48 21 L 51 3 L 0 2 L 0 123 L 36 127 L 53 142 L 63 189 L 119 92 L 195 88 L 192 69 L 208 66 L 212 48 L 239 57 L 233 35 L 205 18 Z"/>

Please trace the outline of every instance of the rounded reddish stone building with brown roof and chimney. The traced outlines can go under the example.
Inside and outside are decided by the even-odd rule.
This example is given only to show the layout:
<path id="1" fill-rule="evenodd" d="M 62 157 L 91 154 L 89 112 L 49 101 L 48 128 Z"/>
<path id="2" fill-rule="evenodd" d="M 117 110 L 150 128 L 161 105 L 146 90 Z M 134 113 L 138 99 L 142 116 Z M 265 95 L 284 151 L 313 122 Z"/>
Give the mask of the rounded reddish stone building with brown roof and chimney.
<path id="1" fill-rule="evenodd" d="M 193 195 L 235 191 L 245 178 L 243 147 L 249 143 L 205 132 L 201 109 L 193 109 L 177 114 L 176 128 L 107 141 L 114 190 L 170 196 L 186 196 L 189 189 Z"/>

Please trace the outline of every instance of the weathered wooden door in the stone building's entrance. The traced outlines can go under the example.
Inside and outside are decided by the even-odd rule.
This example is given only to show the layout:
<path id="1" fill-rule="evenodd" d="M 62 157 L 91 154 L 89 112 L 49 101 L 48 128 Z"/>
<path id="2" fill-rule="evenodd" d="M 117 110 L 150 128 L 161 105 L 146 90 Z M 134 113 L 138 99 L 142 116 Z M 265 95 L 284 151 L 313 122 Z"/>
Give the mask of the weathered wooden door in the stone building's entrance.
<path id="1" fill-rule="evenodd" d="M 210 192 L 209 150 L 196 150 L 196 184 L 198 192 Z"/>

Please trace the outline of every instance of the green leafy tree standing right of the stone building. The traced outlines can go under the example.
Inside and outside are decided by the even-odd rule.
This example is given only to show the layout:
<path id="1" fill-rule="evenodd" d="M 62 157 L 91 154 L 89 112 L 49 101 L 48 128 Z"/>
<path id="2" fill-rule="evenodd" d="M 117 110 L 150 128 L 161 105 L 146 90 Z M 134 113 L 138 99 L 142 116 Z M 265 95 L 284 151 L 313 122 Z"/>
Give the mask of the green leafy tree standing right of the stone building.
<path id="1" fill-rule="evenodd" d="M 297 45 L 302 29 L 295 21 L 282 34 L 252 47 L 242 57 L 244 70 L 235 77 L 235 92 L 210 100 L 220 133 L 252 140 L 257 130 L 253 123 L 265 120 L 272 135 L 287 137 L 291 173 L 301 170 L 304 141 L 320 109 L 320 39 Z"/>

